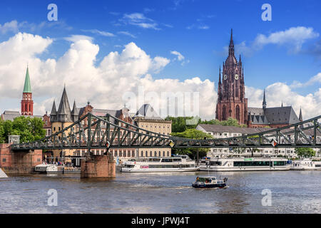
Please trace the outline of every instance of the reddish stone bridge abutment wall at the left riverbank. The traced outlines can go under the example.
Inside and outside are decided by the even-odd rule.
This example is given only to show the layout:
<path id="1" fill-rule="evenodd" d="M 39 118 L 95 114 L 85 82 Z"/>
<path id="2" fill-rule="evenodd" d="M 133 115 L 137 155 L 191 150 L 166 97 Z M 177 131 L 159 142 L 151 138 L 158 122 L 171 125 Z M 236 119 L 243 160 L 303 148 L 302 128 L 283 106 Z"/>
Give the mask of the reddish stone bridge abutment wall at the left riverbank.
<path id="1" fill-rule="evenodd" d="M 13 152 L 10 144 L 0 143 L 0 167 L 6 174 L 29 174 L 42 162 L 42 150 Z"/>

